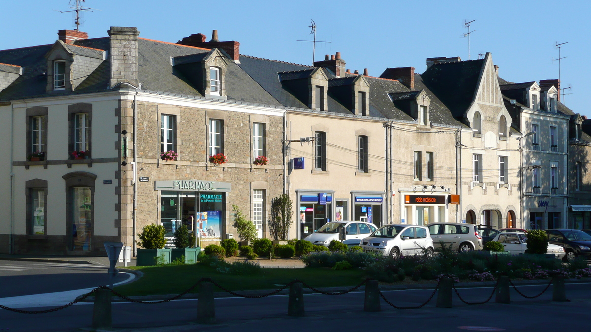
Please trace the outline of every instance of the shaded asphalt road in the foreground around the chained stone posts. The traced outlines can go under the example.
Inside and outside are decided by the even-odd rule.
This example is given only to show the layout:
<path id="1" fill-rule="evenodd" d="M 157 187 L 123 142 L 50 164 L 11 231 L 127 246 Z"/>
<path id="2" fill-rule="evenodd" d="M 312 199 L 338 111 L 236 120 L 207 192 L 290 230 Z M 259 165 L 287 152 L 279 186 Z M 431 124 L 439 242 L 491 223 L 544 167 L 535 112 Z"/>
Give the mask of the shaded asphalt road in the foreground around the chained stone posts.
<path id="1" fill-rule="evenodd" d="M 518 287 L 526 295 L 544 286 Z M 306 294 L 306 317 L 287 316 L 287 296 L 247 299 L 217 298 L 217 324 L 194 324 L 198 300 L 165 304 L 113 303 L 113 327 L 119 331 L 281 331 L 328 330 L 366 331 L 586 331 L 589 329 L 591 283 L 567 284 L 570 302 L 551 301 L 552 287 L 541 297 L 529 300 L 511 291 L 511 304 L 466 305 L 454 295 L 453 308 L 436 308 L 436 297 L 416 310 L 396 310 L 382 301 L 382 311 L 363 311 L 363 292 L 346 295 Z M 398 306 L 426 301 L 432 291 L 387 291 L 384 295 Z M 483 301 L 492 288 L 462 288 L 466 301 Z M 40 308 L 34 308 L 38 310 Z M 48 314 L 19 314 L 0 310 L 0 331 L 77 331 L 89 327 L 92 304 L 80 304 Z M 183 325 L 184 324 L 184 325 Z M 474 327 L 481 327 L 475 329 Z M 484 329 L 483 329 L 484 328 Z"/>

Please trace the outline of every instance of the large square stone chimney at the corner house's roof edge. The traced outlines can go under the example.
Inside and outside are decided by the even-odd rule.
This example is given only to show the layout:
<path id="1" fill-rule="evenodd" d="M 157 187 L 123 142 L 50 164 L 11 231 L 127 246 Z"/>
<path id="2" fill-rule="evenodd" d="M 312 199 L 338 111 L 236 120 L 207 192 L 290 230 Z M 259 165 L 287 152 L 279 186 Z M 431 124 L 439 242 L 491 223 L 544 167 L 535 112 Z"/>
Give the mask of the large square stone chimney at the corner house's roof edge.
<path id="1" fill-rule="evenodd" d="M 126 82 L 139 87 L 138 79 L 138 36 L 136 27 L 111 27 L 107 31 L 110 38 L 111 51 L 111 87 Z"/>

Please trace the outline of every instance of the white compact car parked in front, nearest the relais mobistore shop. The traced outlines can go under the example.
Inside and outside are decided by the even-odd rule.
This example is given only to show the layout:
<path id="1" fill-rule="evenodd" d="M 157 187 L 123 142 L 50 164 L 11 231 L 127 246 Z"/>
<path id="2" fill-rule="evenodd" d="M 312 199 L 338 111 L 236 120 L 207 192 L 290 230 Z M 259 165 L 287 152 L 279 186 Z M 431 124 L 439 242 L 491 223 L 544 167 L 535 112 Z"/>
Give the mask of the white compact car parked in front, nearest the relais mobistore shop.
<path id="1" fill-rule="evenodd" d="M 379 252 L 398 258 L 400 255 L 433 255 L 433 239 L 424 226 L 387 224 L 361 240 L 365 252 Z"/>

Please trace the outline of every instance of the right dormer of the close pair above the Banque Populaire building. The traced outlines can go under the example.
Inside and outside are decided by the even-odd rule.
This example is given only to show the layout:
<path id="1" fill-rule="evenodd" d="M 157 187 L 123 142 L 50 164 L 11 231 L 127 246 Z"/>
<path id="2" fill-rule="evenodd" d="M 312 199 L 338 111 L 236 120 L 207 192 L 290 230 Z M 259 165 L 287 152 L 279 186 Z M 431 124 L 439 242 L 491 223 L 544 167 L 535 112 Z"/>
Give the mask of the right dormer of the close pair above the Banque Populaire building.
<path id="1" fill-rule="evenodd" d="M 355 115 L 369 115 L 369 82 L 363 75 L 329 79 L 328 90 Z"/>

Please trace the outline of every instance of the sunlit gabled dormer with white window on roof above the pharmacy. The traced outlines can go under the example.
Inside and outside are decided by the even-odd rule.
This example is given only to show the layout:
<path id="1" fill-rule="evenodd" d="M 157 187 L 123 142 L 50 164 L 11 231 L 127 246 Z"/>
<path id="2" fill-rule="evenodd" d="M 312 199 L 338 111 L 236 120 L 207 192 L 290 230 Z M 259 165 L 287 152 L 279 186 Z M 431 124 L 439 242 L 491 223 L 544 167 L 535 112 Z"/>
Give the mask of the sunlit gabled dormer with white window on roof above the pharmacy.
<path id="1" fill-rule="evenodd" d="M 171 58 L 172 65 L 180 71 L 203 96 L 226 99 L 226 69 L 228 54 L 214 48 L 203 53 Z"/>

